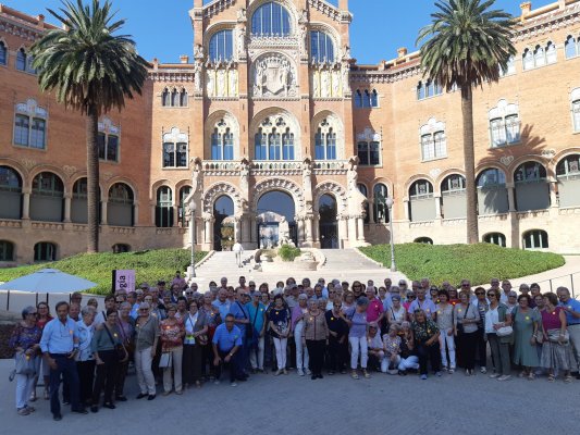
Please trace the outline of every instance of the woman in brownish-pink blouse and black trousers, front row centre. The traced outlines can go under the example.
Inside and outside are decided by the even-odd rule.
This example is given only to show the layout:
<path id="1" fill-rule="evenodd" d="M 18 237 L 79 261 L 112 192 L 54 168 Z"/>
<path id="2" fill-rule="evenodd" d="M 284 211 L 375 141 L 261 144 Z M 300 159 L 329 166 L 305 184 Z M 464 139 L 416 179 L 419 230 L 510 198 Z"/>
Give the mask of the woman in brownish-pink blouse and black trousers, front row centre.
<path id="1" fill-rule="evenodd" d="M 325 304 L 325 302 L 324 302 Z M 324 347 L 329 343 L 329 326 L 324 318 L 324 311 L 320 309 L 317 300 L 308 301 L 308 313 L 304 315 L 304 327 L 301 331 L 303 346 L 308 349 L 310 378 L 322 378 L 322 366 L 324 364 Z"/>

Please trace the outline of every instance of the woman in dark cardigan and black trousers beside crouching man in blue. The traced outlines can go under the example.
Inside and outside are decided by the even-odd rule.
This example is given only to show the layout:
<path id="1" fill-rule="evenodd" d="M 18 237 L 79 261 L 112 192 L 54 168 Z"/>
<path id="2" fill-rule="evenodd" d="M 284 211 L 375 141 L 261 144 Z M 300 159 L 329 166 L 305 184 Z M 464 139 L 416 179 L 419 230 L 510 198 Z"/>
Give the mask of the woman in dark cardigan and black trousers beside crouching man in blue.
<path id="1" fill-rule="evenodd" d="M 199 310 L 199 303 L 189 302 L 189 312 L 184 319 L 185 339 L 183 341 L 183 383 L 201 387 L 201 357 L 203 346 L 208 343 L 208 322 L 206 312 Z"/>

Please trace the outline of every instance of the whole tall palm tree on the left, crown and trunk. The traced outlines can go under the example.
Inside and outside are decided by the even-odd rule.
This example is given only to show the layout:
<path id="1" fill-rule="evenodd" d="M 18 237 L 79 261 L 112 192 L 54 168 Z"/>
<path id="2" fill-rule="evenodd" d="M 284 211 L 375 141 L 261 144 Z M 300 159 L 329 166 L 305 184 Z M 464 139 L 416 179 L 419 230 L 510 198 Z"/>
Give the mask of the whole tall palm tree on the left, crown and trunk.
<path id="1" fill-rule="evenodd" d="M 137 54 L 126 35 L 114 35 L 125 24 L 114 21 L 109 0 L 92 5 L 62 1 L 57 13 L 48 10 L 61 28 L 48 30 L 32 47 L 34 67 L 42 91 L 54 91 L 57 100 L 86 115 L 87 140 L 87 252 L 99 250 L 99 116 L 125 97 L 140 95 L 147 77 L 147 62 Z"/>

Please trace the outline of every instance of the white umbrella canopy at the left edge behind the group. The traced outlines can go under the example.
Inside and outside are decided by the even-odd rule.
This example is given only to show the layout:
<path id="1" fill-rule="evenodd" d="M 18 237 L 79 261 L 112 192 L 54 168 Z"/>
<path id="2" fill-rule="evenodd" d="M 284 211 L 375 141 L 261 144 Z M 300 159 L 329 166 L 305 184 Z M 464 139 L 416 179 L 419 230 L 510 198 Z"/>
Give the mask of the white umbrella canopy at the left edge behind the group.
<path id="1" fill-rule="evenodd" d="M 97 284 L 69 275 L 55 269 L 42 269 L 30 275 L 21 276 L 0 285 L 0 290 L 16 290 L 32 293 L 73 293 L 92 288 Z"/>

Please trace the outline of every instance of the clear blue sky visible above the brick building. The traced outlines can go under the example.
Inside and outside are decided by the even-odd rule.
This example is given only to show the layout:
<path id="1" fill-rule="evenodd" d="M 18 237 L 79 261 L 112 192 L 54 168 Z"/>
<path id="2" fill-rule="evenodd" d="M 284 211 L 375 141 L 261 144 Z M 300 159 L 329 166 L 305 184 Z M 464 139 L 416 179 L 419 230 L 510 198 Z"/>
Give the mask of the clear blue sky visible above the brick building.
<path id="1" fill-rule="evenodd" d="M 76 0 L 74 0 L 76 1 Z M 497 0 L 497 8 L 519 15 L 522 0 Z M 532 0 L 536 9 L 556 0 Z M 59 0 L 0 0 L 8 7 L 32 15 L 58 8 Z M 127 20 L 125 34 L 133 35 L 139 53 L 147 60 L 177 62 L 180 54 L 192 54 L 193 30 L 188 10 L 193 0 L 112 0 L 119 16 Z M 206 1 L 208 2 L 208 1 Z M 330 1 L 333 4 L 337 0 Z M 434 0 L 350 0 L 355 15 L 350 27 L 353 57 L 358 63 L 379 63 L 396 58 L 398 47 L 414 51 L 419 28 L 430 21 Z"/>

